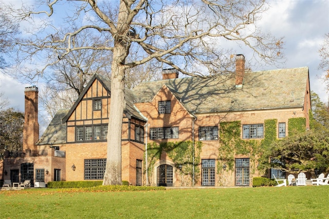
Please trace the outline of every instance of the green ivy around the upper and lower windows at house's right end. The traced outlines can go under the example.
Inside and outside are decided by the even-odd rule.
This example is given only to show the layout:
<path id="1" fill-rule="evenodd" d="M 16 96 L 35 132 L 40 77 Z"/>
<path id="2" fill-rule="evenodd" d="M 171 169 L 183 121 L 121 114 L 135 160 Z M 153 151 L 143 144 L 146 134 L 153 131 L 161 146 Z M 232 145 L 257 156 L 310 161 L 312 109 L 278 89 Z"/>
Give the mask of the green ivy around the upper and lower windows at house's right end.
<path id="1" fill-rule="evenodd" d="M 280 141 L 277 138 L 277 119 L 264 121 L 264 138 L 263 140 L 242 140 L 241 139 L 241 122 L 225 122 L 220 126 L 220 147 L 217 173 L 222 171 L 224 164 L 228 166 L 228 170 L 234 169 L 234 157 L 237 154 L 247 155 L 250 158 L 250 165 L 254 165 L 258 161 L 257 169 L 261 174 L 265 174 L 270 167 L 269 157 L 273 147 L 273 143 Z M 306 118 L 290 118 L 288 120 L 288 132 L 305 132 Z M 251 166 L 251 173 L 256 168 Z"/>

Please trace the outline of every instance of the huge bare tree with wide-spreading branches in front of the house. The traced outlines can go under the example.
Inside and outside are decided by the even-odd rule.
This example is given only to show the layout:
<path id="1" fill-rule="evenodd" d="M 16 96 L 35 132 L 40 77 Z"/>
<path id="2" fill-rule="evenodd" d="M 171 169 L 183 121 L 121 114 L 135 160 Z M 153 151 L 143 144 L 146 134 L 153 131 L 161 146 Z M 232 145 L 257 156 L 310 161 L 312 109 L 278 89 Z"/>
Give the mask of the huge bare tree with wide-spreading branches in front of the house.
<path id="1" fill-rule="evenodd" d="M 59 9 L 63 4 L 65 7 Z M 111 51 L 113 54 L 103 185 L 121 184 L 124 77 L 129 69 L 156 60 L 186 75 L 216 76 L 232 70 L 232 53 L 224 48 L 226 42 L 232 41 L 245 45 L 266 63 L 276 63 L 282 57 L 282 38 L 264 34 L 257 27 L 257 21 L 266 10 L 265 0 L 121 0 L 111 3 L 48 0 L 47 5 L 47 11 L 24 7 L 17 11 L 25 21 L 37 24 L 38 19 L 41 27 L 39 32 L 34 27 L 28 38 L 18 42 L 20 57 L 31 61 L 38 55 L 44 58 L 46 64 L 36 74 L 42 74 L 48 66 L 56 65 L 78 50 Z M 57 9 L 65 9 L 70 14 L 64 21 L 83 22 L 71 25 L 71 31 L 60 36 L 57 34 L 60 25 L 44 16 L 53 17 Z M 42 21 L 45 23 L 40 25 Z M 75 38 L 87 30 L 99 40 L 77 46 Z M 132 52 L 138 56 L 130 60 L 127 57 Z"/>

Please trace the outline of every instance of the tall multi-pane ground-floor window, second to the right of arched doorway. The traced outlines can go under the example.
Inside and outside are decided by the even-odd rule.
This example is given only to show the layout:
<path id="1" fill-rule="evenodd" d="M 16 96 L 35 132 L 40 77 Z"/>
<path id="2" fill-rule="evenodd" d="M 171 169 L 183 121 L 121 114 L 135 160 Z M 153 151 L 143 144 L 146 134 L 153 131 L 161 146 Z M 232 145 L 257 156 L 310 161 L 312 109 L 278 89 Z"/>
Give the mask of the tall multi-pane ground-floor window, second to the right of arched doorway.
<path id="1" fill-rule="evenodd" d="M 249 186 L 249 158 L 235 159 L 235 186 Z"/>

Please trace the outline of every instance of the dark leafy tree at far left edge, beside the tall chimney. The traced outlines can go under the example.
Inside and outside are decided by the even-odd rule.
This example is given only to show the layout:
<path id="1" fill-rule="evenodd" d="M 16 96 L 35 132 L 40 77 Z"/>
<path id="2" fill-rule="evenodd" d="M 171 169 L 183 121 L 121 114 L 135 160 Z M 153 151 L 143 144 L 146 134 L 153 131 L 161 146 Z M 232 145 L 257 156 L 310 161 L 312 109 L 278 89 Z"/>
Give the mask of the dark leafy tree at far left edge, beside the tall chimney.
<path id="1" fill-rule="evenodd" d="M 0 111 L 0 158 L 5 149 L 15 154 L 23 149 L 24 114 L 10 108 Z"/>

